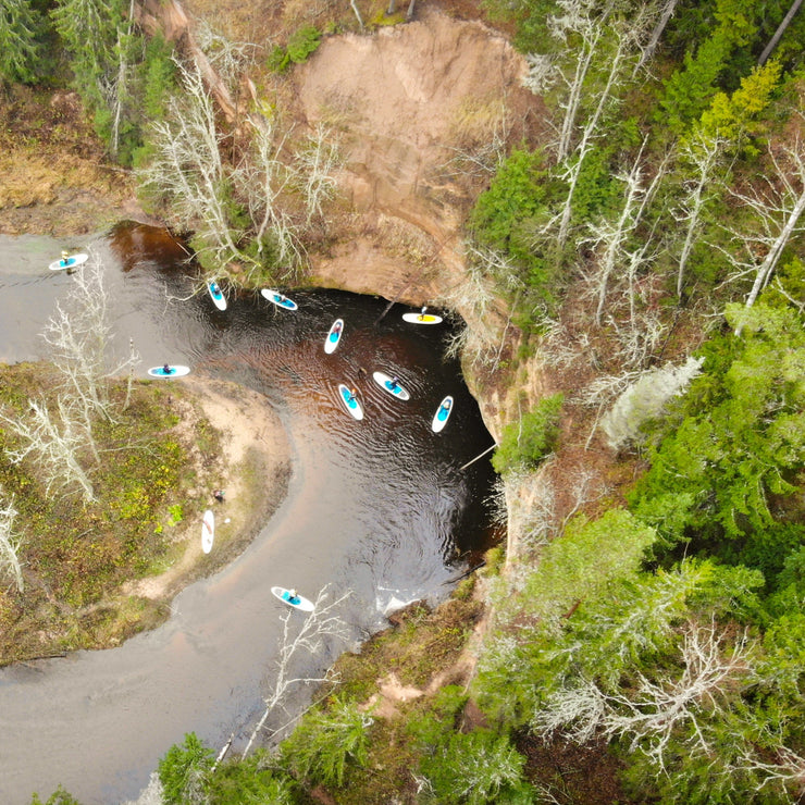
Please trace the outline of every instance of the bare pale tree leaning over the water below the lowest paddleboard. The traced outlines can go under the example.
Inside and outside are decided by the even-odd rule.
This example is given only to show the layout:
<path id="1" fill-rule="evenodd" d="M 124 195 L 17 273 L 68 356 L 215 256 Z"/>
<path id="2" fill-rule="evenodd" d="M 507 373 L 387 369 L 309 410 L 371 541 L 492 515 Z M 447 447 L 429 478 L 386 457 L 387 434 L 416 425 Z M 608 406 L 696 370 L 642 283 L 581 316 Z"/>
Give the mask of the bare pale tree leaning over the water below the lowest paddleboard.
<path id="1" fill-rule="evenodd" d="M 351 593 L 347 592 L 325 605 L 327 595 L 327 587 L 324 587 L 319 592 L 313 605 L 313 611 L 305 618 L 305 621 L 298 631 L 296 631 L 298 615 L 288 610 L 283 616 L 283 633 L 280 639 L 280 657 L 276 660 L 276 677 L 271 686 L 271 691 L 265 698 L 265 711 L 255 727 L 255 730 L 249 738 L 249 742 L 246 744 L 246 748 L 243 753 L 244 757 L 246 757 L 251 750 L 252 744 L 257 740 L 258 733 L 260 733 L 260 731 L 265 727 L 265 722 L 269 717 L 274 714 L 277 708 L 284 709 L 284 704 L 292 688 L 296 688 L 298 685 L 323 684 L 329 681 L 329 672 L 313 677 L 293 676 L 293 665 L 299 659 L 300 654 L 306 653 L 309 656 L 314 656 L 321 648 L 322 642 L 325 639 L 331 637 L 345 640 L 347 636 L 347 626 L 338 615 L 336 615 L 336 609 L 351 595 Z M 283 725 L 282 728 L 274 730 L 273 734 L 276 734 L 281 729 L 286 729 L 293 725 L 300 716 L 301 714 L 292 718 L 290 721 Z"/>

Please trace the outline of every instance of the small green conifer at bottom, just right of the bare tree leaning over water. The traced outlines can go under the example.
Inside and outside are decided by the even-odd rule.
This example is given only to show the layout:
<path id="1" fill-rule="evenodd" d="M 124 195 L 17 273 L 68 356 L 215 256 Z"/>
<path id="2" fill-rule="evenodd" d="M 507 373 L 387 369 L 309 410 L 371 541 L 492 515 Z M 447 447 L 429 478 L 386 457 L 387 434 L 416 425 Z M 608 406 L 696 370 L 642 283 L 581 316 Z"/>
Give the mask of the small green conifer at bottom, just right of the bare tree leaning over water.
<path id="1" fill-rule="evenodd" d="M 372 718 L 337 696 L 327 710 L 308 713 L 283 742 L 282 757 L 310 784 L 342 787 L 350 765 L 362 767 L 369 752 Z"/>

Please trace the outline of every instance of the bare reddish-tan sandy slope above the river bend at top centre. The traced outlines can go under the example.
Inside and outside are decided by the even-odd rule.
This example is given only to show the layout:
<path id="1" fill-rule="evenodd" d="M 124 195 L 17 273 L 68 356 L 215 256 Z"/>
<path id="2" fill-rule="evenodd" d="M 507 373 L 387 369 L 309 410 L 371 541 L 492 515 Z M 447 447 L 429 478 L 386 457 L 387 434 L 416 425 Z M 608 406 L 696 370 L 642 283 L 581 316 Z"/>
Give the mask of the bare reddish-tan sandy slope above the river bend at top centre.
<path id="1" fill-rule="evenodd" d="M 491 175 L 469 175 L 466 162 L 496 136 L 532 135 L 542 120 L 520 86 L 524 69 L 501 36 L 436 12 L 326 39 L 294 81 L 305 121 L 340 132 L 340 190 L 369 233 L 317 259 L 315 273 L 413 304 L 460 283 L 463 220 Z M 418 260 L 395 255 L 395 228 L 418 242 Z"/>

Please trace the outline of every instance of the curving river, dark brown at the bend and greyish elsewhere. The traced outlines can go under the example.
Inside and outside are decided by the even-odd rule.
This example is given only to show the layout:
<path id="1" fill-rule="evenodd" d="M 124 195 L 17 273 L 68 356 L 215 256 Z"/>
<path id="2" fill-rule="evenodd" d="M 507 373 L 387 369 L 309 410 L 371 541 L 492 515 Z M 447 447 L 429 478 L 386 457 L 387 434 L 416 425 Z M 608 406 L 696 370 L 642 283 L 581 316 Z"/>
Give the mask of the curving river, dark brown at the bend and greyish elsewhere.
<path id="1" fill-rule="evenodd" d="M 168 361 L 259 392 L 287 430 L 294 471 L 248 549 L 182 592 L 161 628 L 119 648 L 0 669 L 2 805 L 28 803 L 34 791 L 46 798 L 60 783 L 85 805 L 135 798 L 190 731 L 213 747 L 235 733 L 243 748 L 275 673 L 285 611 L 272 584 L 311 598 L 324 587 L 332 597 L 351 591 L 339 608 L 348 640 L 300 660 L 300 672 L 318 672 L 382 629 L 393 598 L 445 598 L 493 540 L 488 460 L 460 469 L 492 437 L 444 357 L 449 322 L 411 325 L 404 306 L 383 315 L 385 299 L 309 289 L 287 292 L 296 312 L 252 292 L 230 294 L 221 312 L 208 294 L 194 295 L 174 242 L 123 224 L 87 243 L 0 237 L 0 360 L 45 357 L 39 334 L 74 282 L 47 268 L 64 247 L 103 264 L 115 348 L 123 356 L 134 340 L 144 379 Z M 336 317 L 344 336 L 325 355 Z M 397 375 L 411 399 L 383 392 L 375 370 Z M 340 406 L 340 382 L 358 388 L 363 421 Z M 434 434 L 447 394 L 454 412 Z"/>

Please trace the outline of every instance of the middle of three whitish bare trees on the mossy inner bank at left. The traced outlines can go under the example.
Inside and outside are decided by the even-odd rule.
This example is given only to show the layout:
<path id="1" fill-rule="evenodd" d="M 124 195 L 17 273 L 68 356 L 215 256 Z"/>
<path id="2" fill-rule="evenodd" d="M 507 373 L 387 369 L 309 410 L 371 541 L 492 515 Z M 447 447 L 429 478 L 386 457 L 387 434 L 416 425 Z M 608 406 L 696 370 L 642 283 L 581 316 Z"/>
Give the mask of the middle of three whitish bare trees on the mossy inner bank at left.
<path id="1" fill-rule="evenodd" d="M 16 450 L 8 450 L 13 463 L 33 455 L 50 494 L 51 488 L 77 490 L 87 503 L 95 500 L 95 492 L 78 455 L 89 446 L 88 434 L 76 426 L 78 418 L 63 397 L 58 399 L 59 418 L 54 418 L 44 400 L 29 400 L 28 417 L 9 416 L 0 411 L 0 422 L 23 442 Z"/>

